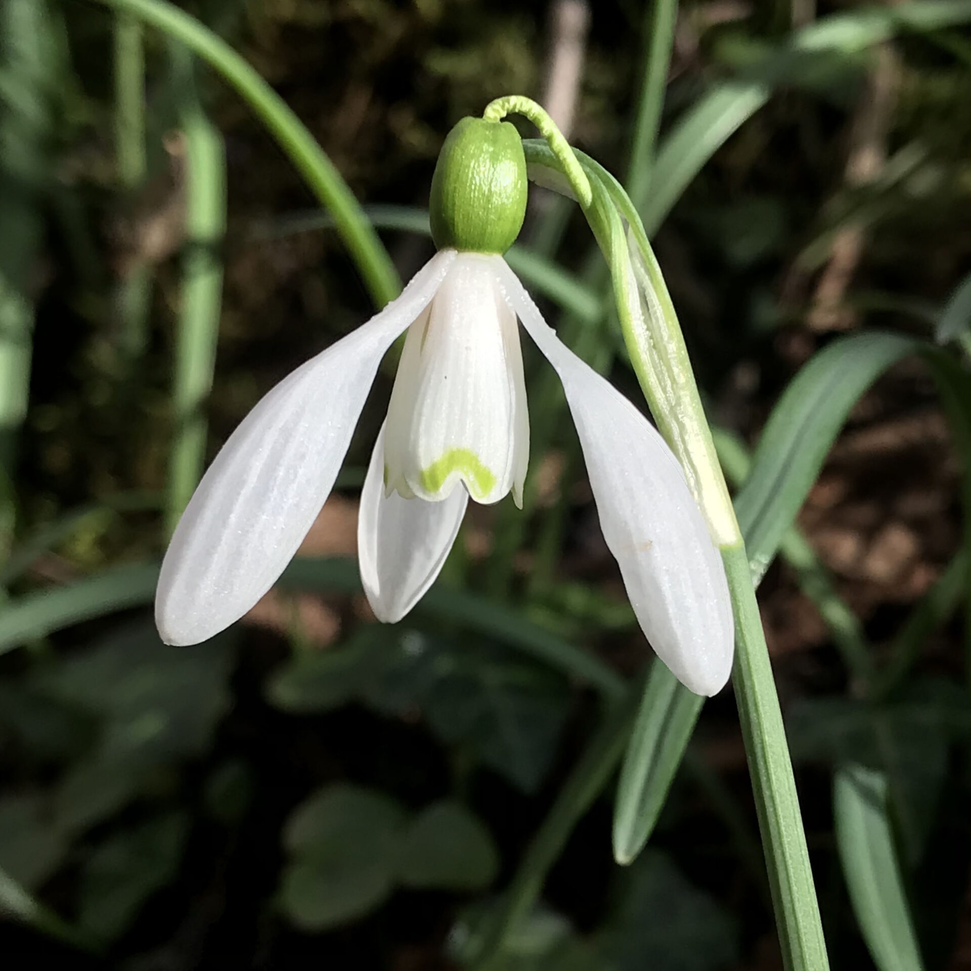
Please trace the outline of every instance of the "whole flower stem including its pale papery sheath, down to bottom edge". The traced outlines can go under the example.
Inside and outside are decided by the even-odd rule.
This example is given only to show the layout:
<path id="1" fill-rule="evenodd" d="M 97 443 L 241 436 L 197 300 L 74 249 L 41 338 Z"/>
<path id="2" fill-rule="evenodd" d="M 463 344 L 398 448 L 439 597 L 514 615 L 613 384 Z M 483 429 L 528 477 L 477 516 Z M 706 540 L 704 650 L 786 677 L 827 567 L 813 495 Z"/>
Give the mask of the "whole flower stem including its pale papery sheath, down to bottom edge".
<path id="1" fill-rule="evenodd" d="M 523 148 L 527 164 L 560 168 L 542 143 L 525 142 Z M 630 198 L 593 159 L 582 152 L 577 157 L 592 187 L 586 217 L 611 268 L 627 352 L 725 564 L 735 617 L 736 701 L 783 959 L 787 971 L 825 971 L 820 909 L 752 571 L 678 317 Z"/>

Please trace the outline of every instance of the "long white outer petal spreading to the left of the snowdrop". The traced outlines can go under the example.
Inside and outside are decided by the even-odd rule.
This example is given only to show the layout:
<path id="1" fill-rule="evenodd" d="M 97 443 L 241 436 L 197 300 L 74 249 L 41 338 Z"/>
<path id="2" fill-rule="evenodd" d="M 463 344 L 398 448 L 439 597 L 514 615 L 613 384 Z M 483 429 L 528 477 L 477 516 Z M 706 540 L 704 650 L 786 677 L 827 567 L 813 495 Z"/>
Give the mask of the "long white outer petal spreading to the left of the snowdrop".
<path id="1" fill-rule="evenodd" d="M 454 257 L 439 252 L 381 313 L 270 390 L 229 437 L 162 562 L 162 640 L 197 644 L 218 634 L 283 573 L 334 485 L 382 357 Z"/>

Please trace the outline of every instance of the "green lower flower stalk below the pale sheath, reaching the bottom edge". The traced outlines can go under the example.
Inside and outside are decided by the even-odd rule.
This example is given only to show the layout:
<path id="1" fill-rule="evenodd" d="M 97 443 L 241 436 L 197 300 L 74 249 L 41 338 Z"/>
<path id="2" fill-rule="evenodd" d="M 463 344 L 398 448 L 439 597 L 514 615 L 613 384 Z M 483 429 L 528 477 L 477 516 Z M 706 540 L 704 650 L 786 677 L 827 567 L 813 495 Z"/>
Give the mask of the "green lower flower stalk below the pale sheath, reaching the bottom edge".
<path id="1" fill-rule="evenodd" d="M 735 614 L 732 676 L 787 971 L 828 968 L 786 729 L 744 544 L 721 552 Z"/>

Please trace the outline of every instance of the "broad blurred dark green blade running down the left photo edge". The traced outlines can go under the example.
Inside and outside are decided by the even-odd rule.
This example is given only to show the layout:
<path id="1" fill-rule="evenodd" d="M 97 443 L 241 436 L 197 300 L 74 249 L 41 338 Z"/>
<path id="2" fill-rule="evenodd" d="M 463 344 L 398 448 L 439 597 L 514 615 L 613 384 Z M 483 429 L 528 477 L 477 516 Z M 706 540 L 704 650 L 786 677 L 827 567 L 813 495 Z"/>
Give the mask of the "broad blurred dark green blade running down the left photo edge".
<path id="1" fill-rule="evenodd" d="M 44 232 L 42 202 L 50 175 L 52 47 L 42 0 L 0 5 L 0 558 L 6 558 L 13 539 L 13 470 L 30 391 L 31 273 Z"/>

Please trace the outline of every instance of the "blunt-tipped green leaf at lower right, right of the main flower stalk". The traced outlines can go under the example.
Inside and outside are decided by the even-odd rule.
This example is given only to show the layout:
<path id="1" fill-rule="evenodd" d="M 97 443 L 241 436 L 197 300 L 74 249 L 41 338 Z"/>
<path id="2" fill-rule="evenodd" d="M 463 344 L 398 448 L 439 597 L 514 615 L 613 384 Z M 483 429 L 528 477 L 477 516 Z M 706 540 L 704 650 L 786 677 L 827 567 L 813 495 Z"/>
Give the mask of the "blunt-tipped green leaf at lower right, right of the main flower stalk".
<path id="1" fill-rule="evenodd" d="M 856 921 L 880 971 L 922 971 L 893 843 L 887 778 L 857 763 L 833 783 L 836 845 Z"/>

